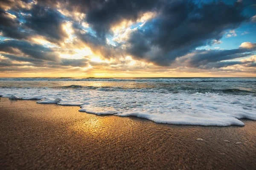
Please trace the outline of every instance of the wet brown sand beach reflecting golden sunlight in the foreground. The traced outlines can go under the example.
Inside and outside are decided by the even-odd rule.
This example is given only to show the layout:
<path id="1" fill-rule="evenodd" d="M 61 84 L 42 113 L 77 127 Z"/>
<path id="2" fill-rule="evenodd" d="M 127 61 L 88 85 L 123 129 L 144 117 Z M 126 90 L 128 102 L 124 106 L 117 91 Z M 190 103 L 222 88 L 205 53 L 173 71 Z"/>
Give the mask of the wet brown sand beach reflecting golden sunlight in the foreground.
<path id="1" fill-rule="evenodd" d="M 1 169 L 256 169 L 256 121 L 166 125 L 78 110 L 0 98 Z"/>

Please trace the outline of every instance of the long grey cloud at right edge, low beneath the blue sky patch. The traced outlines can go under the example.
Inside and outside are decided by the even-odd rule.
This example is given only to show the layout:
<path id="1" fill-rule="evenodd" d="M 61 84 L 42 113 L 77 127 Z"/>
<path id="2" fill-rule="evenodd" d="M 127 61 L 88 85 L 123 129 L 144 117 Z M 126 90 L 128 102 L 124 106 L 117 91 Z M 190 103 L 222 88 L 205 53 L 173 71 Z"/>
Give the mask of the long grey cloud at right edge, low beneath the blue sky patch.
<path id="1" fill-rule="evenodd" d="M 242 43 L 244 45 L 244 43 Z M 250 44 L 254 47 L 244 48 L 243 45 L 239 48 L 231 50 L 195 50 L 189 54 L 186 54 L 182 57 L 175 59 L 175 62 L 172 63 L 171 68 L 186 67 L 186 68 L 199 68 L 199 69 L 213 69 L 213 68 L 222 68 L 228 67 L 231 65 L 243 65 L 255 62 L 253 52 L 256 51 L 256 43 L 245 42 L 245 44 Z M 248 57 L 246 59 L 241 59 L 238 61 L 238 58 Z M 233 61 L 236 59 L 236 61 Z"/>

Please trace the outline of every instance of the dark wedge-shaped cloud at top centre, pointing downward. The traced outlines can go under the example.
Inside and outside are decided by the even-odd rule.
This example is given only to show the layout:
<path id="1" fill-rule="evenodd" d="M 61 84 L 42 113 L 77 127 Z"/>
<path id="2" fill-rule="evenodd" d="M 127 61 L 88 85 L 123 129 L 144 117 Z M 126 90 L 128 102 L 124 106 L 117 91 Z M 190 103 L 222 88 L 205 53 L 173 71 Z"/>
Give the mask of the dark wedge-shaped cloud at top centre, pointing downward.
<path id="1" fill-rule="evenodd" d="M 86 14 L 86 21 L 96 31 L 97 37 L 105 40 L 109 28 L 122 20 L 137 20 L 145 11 L 151 11 L 162 0 L 38 0 L 52 8 Z"/>

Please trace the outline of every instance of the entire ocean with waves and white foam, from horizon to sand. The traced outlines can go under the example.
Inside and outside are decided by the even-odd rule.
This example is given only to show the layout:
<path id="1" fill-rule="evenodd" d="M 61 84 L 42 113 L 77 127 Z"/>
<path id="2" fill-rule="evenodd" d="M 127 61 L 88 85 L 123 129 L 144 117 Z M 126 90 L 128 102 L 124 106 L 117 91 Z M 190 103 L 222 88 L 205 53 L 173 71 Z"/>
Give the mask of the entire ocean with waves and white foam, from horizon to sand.
<path id="1" fill-rule="evenodd" d="M 0 97 L 175 125 L 256 120 L 256 78 L 0 78 Z"/>

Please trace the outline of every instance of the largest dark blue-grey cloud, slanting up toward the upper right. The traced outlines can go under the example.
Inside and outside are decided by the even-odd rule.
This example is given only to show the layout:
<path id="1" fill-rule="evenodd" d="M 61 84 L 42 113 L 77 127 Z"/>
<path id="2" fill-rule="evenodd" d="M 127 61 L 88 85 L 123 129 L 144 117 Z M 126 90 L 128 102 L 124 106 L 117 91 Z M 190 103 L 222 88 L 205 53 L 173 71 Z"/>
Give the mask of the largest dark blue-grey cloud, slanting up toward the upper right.
<path id="1" fill-rule="evenodd" d="M 242 11 L 241 3 L 168 1 L 157 18 L 131 34 L 127 51 L 135 59 L 170 65 L 177 57 L 220 40 L 224 30 L 237 28 L 247 19 Z"/>

